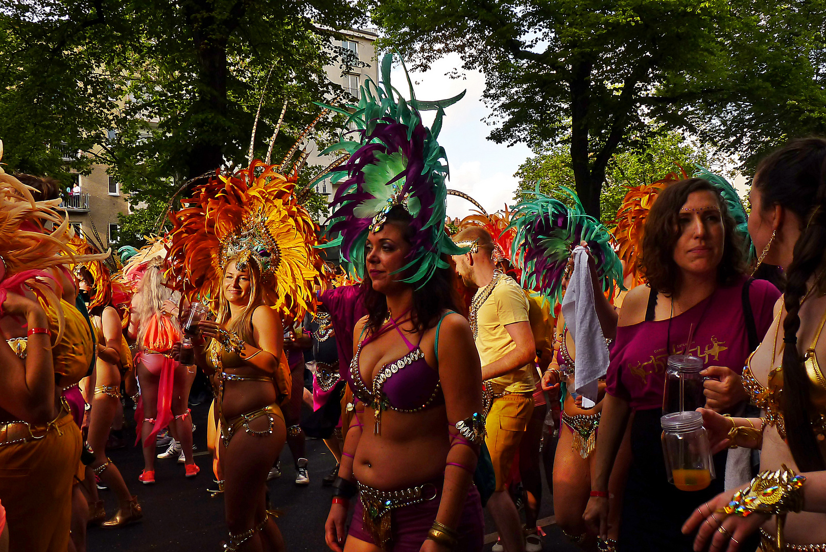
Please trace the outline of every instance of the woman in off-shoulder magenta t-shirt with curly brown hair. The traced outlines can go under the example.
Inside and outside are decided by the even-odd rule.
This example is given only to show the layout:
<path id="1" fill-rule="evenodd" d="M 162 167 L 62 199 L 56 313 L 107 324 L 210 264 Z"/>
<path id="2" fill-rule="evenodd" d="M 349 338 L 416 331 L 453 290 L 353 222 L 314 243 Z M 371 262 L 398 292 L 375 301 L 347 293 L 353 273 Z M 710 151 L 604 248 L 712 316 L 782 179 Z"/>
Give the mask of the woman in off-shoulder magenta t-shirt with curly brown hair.
<path id="1" fill-rule="evenodd" d="M 596 493 L 585 518 L 605 536 L 608 500 L 603 495 L 633 410 L 633 460 L 618 548 L 688 552 L 692 539 L 682 535 L 681 525 L 697 505 L 722 490 L 725 453 L 714 457 L 717 478 L 708 488 L 686 492 L 668 483 L 660 444 L 667 357 L 699 356 L 702 374 L 709 378 L 706 405 L 732 412 L 748 399 L 739 374 L 750 345 L 756 346 L 771 325 L 780 293 L 764 280 L 748 280 L 742 239 L 726 202 L 700 178 L 659 194 L 645 221 L 641 264 L 648 286 L 631 290 L 619 312 L 591 479 Z"/>

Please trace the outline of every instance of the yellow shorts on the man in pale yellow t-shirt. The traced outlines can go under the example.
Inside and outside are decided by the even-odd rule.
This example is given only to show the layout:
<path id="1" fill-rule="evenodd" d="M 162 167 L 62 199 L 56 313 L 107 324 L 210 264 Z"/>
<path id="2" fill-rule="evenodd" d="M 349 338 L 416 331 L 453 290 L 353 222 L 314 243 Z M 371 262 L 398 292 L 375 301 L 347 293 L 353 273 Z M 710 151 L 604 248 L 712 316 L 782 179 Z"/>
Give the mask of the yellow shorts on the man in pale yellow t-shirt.
<path id="1" fill-rule="evenodd" d="M 491 412 L 488 412 L 485 424 L 485 444 L 491 453 L 497 491 L 505 490 L 510 466 L 514 462 L 522 435 L 525 435 L 525 428 L 533 413 L 534 397 L 514 394 L 493 399 Z"/>

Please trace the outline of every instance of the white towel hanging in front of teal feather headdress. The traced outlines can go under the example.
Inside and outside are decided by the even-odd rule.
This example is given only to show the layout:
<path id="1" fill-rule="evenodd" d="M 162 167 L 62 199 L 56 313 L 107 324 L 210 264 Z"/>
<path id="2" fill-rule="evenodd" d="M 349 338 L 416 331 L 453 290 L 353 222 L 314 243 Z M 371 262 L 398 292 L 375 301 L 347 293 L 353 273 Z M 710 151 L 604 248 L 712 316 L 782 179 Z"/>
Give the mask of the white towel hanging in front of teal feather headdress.
<path id="1" fill-rule="evenodd" d="M 582 395 L 582 407 L 596 404 L 599 378 L 608 371 L 608 348 L 596 316 L 588 250 L 582 245 L 573 250 L 573 274 L 563 298 L 565 325 L 573 337 L 577 358 L 574 359 L 574 391 Z"/>

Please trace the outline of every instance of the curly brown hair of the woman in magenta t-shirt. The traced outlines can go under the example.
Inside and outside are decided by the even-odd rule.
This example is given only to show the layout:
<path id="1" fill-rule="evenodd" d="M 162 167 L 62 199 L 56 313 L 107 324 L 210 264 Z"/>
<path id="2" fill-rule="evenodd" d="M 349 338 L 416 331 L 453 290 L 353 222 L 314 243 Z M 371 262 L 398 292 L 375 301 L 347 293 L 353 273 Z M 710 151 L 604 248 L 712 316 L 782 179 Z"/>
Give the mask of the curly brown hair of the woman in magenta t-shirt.
<path id="1" fill-rule="evenodd" d="M 723 259 L 717 267 L 717 282 L 720 285 L 731 285 L 746 273 L 743 238 L 739 235 L 737 223 L 729 214 L 729 208 L 719 190 L 703 178 L 681 180 L 662 190 L 648 212 L 643 234 L 643 254 L 638 261 L 639 270 L 648 285 L 665 295 L 672 295 L 680 283 L 680 268 L 674 262 L 674 247 L 680 239 L 677 219 L 681 207 L 694 192 L 714 193 L 723 219 Z"/>

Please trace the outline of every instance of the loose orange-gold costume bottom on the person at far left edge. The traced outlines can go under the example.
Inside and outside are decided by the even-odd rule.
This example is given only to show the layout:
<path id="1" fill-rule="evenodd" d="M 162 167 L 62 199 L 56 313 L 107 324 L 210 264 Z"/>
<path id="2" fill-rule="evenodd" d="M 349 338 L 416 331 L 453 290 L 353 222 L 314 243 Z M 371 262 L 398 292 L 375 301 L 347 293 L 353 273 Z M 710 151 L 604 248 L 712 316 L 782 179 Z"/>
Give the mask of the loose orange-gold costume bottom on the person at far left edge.
<path id="1" fill-rule="evenodd" d="M 9 550 L 65 552 L 82 440 L 68 412 L 48 426 L 0 424 L 0 502 Z"/>

